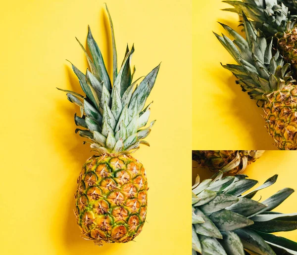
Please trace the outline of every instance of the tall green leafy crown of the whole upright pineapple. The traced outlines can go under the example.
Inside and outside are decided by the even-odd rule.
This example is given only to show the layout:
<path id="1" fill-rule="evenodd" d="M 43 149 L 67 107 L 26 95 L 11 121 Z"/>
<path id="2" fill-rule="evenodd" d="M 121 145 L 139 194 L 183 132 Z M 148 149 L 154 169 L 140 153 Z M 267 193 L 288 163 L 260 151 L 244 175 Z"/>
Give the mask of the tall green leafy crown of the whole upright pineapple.
<path id="1" fill-rule="evenodd" d="M 77 128 L 75 132 L 82 137 L 89 138 L 91 148 L 99 154 L 128 153 L 137 150 L 141 143 L 149 146 L 148 142 L 143 139 L 148 136 L 155 121 L 151 122 L 149 127 L 142 128 L 147 125 L 150 104 L 145 109 L 144 107 L 160 65 L 155 67 L 139 85 L 136 85 L 141 78 L 132 82 L 136 71 L 134 67 L 131 72 L 130 66 L 130 59 L 134 52 L 133 45 L 131 49 L 127 46 L 125 58 L 120 70 L 117 71 L 114 30 L 107 5 L 106 11 L 112 39 L 112 85 L 99 46 L 89 27 L 87 44 L 92 58 L 84 46 L 77 41 L 87 57 L 90 70 L 87 69 L 86 74 L 83 74 L 71 64 L 86 96 L 69 90 L 59 90 L 66 92 L 68 100 L 80 107 L 80 116 L 75 114 L 74 120 L 77 126 L 85 129 Z"/>

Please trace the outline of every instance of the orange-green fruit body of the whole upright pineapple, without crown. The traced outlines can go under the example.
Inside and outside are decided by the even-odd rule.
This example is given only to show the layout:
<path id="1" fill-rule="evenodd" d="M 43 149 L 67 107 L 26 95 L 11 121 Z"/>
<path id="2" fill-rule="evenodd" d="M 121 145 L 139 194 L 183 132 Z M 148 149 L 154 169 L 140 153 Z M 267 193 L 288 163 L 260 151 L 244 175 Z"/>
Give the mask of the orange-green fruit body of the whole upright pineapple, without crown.
<path id="1" fill-rule="evenodd" d="M 143 165 L 131 155 L 89 158 L 78 177 L 76 220 L 96 245 L 126 243 L 142 231 L 148 182 Z"/>

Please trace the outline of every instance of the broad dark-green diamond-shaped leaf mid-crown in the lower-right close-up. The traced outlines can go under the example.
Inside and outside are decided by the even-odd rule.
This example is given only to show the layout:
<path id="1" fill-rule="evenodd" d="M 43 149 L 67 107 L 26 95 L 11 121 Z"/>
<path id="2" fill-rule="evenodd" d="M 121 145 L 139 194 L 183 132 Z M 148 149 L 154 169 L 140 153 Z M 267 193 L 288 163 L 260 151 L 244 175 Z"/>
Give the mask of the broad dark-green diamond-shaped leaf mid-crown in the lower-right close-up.
<path id="1" fill-rule="evenodd" d="M 232 231 L 253 224 L 253 221 L 247 217 L 225 209 L 216 213 L 212 213 L 209 216 L 209 219 L 220 231 Z"/>

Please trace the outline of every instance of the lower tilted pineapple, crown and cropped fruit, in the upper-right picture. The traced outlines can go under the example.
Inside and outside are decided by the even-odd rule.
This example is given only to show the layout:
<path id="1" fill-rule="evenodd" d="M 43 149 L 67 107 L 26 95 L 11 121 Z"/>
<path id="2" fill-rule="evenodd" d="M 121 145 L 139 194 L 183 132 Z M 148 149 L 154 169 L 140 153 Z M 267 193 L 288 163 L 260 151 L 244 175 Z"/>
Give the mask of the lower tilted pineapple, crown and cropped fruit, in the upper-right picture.
<path id="1" fill-rule="evenodd" d="M 296 150 L 297 87 L 290 64 L 273 49 L 273 39 L 267 43 L 264 33 L 256 30 L 244 13 L 243 25 L 246 39 L 224 24 L 235 40 L 215 34 L 237 62 L 223 67 L 230 70 L 243 91 L 263 107 L 266 127 L 276 146 L 281 150 Z"/>

